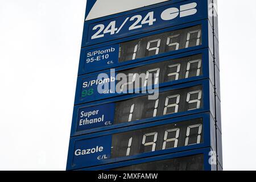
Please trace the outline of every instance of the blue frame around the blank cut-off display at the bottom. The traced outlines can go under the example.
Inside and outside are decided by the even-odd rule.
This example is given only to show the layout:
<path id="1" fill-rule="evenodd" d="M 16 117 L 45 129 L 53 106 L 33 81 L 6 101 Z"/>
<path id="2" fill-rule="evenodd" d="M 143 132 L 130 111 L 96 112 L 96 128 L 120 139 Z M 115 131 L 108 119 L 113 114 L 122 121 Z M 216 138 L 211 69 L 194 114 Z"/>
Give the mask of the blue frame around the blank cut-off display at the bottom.
<path id="1" fill-rule="evenodd" d="M 108 170 L 108 169 L 113 169 L 113 168 L 131 166 L 134 164 L 141 164 L 141 163 L 147 163 L 147 162 L 154 162 L 154 161 L 158 161 L 158 160 L 173 159 L 173 158 L 180 158 L 180 157 L 185 157 L 185 156 L 190 156 L 190 155 L 204 154 L 204 171 L 212 171 L 212 170 L 216 169 L 216 165 L 209 164 L 209 152 L 210 151 L 212 151 L 210 147 L 200 148 L 197 150 L 177 152 L 175 154 L 159 155 L 159 156 L 154 156 L 154 157 L 150 157 L 150 158 L 135 159 L 135 160 L 129 160 L 129 161 L 125 161 L 125 162 L 106 164 L 104 166 L 82 168 L 79 170 L 83 170 L 83 171 Z"/>

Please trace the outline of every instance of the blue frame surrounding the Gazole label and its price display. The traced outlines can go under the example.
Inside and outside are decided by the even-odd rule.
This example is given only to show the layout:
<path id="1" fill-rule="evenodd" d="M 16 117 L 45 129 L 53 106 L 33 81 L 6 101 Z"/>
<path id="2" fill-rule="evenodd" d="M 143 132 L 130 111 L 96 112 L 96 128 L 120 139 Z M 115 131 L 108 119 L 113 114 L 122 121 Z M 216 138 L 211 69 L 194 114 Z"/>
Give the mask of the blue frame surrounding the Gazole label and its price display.
<path id="1" fill-rule="evenodd" d="M 117 134 L 117 133 L 123 133 L 123 132 L 126 132 L 126 131 L 133 131 L 133 130 L 144 129 L 144 128 L 148 128 L 148 127 L 166 125 L 166 124 L 170 124 L 170 123 L 189 121 L 189 120 L 196 119 L 196 118 L 203 118 L 203 132 L 204 132 L 203 143 L 194 144 L 194 145 L 191 145 L 191 146 L 170 148 L 170 149 L 167 149 L 167 150 L 146 152 L 144 154 L 138 154 L 138 155 L 133 155 L 133 156 L 124 156 L 124 157 L 121 157 L 121 158 L 113 158 L 113 159 L 110 158 L 110 159 L 105 159 L 105 160 L 97 160 L 96 159 L 95 162 L 84 162 L 83 166 L 79 166 L 79 164 L 74 164 L 73 163 L 75 143 L 76 143 L 77 140 L 92 139 L 92 138 L 96 138 L 96 137 L 106 137 L 107 138 L 107 136 Z M 77 169 L 77 168 L 98 166 L 98 165 L 102 165 L 102 164 L 121 162 L 123 160 L 132 160 L 132 159 L 146 158 L 148 156 L 170 154 L 170 153 L 180 152 L 180 151 L 185 151 L 185 150 L 193 150 L 193 149 L 196 149 L 196 148 L 204 148 L 204 147 L 216 148 L 214 146 L 216 143 L 211 139 L 211 136 L 210 136 L 210 134 L 212 133 L 211 131 L 212 130 L 214 131 L 214 129 L 215 129 L 214 123 L 215 123 L 215 121 L 212 118 L 212 115 L 208 112 L 208 113 L 189 115 L 189 116 L 185 116 L 185 117 L 166 119 L 166 120 L 162 120 L 162 121 L 158 121 L 158 122 L 144 123 L 144 124 L 139 125 L 139 126 L 123 127 L 121 129 L 115 129 L 115 130 L 111 130 L 111 131 L 103 131 L 101 133 L 94 133 L 94 134 L 89 134 L 89 135 L 82 135 L 82 136 L 79 136 L 79 137 L 73 137 L 73 138 L 70 139 L 70 142 L 69 142 L 67 169 L 72 170 L 72 169 Z M 112 142 L 111 139 L 110 139 L 109 142 L 110 143 Z M 104 143 L 102 143 L 102 144 L 104 145 Z M 102 144 L 95 143 L 96 146 L 102 146 Z M 86 156 L 86 157 L 90 158 L 90 156 Z M 82 160 L 82 159 L 80 159 L 80 160 Z"/>

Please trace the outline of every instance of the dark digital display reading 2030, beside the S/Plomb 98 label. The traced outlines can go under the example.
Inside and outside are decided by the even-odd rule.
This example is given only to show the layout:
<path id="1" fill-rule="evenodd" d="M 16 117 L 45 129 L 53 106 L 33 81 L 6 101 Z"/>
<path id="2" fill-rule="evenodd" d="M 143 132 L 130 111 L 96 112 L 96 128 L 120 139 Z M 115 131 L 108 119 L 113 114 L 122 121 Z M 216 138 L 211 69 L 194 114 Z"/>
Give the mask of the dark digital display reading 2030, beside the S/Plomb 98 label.
<path id="1" fill-rule="evenodd" d="M 202 55 L 194 55 L 180 59 L 163 61 L 160 63 L 143 65 L 141 67 L 120 71 L 118 73 L 124 73 L 127 76 L 127 80 L 132 80 L 132 82 L 127 82 L 127 84 L 121 85 L 121 89 L 126 90 L 129 89 L 130 84 L 133 84 L 133 88 L 138 88 L 138 86 L 143 87 L 162 84 L 164 82 L 201 76 L 203 75 Z M 150 74 L 152 75 L 151 79 L 149 79 Z M 141 85 L 135 84 L 139 81 L 141 81 Z"/>

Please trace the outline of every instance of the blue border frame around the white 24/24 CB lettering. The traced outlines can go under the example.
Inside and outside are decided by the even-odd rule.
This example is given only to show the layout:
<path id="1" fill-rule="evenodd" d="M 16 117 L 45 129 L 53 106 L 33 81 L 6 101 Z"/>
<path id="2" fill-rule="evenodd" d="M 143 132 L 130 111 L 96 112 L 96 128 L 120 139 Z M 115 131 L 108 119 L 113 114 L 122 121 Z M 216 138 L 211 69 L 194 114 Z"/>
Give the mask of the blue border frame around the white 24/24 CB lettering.
<path id="1" fill-rule="evenodd" d="M 197 3 L 197 13 L 195 15 L 192 16 L 187 16 L 187 17 L 183 17 L 183 18 L 175 18 L 169 21 L 163 21 L 162 23 L 154 26 L 147 26 L 144 28 L 140 28 L 139 30 L 134 30 L 134 31 L 126 31 L 123 32 L 123 34 L 118 34 L 118 35 L 106 35 L 104 36 L 104 39 L 94 39 L 94 40 L 90 40 L 90 42 L 88 42 L 88 36 L 90 35 L 90 27 L 92 27 L 92 25 L 94 24 L 106 24 L 107 22 L 112 22 L 114 20 L 118 20 L 119 18 L 122 19 L 126 19 L 127 16 L 131 17 L 133 15 L 137 15 L 137 14 L 143 14 L 144 11 L 151 11 L 151 9 L 161 9 L 162 7 L 166 7 L 168 5 L 173 5 L 174 7 L 179 7 L 180 5 L 183 5 L 184 3 L 192 3 L 192 2 L 196 2 Z M 93 20 L 88 20 L 85 21 L 84 23 L 84 33 L 82 36 L 82 47 L 86 47 L 86 46 L 92 46 L 93 44 L 99 44 L 102 42 L 109 42 L 110 40 L 114 40 L 114 39 L 119 39 L 119 38 L 123 38 L 125 36 L 132 36 L 132 35 L 138 35 L 138 34 L 144 34 L 146 32 L 150 32 L 150 31 L 154 31 L 154 30 L 159 30 L 160 28 L 165 28 L 168 26 L 176 26 L 177 24 L 182 24 L 182 23 L 188 23 L 188 22 L 194 22 L 197 20 L 202 20 L 202 19 L 208 19 L 208 5 L 211 1 L 207 0 L 207 1 L 201 1 L 201 0 L 187 0 L 187 1 L 168 1 L 168 2 L 163 2 L 163 3 L 158 3 L 156 5 L 152 5 L 152 6 L 147 6 L 147 7 L 142 7 L 139 10 L 131 10 L 129 11 L 129 13 L 124 12 L 124 13 L 119 13 L 119 14 L 114 14 L 114 15 L 110 15 L 110 16 L 105 16 L 102 18 L 98 18 L 98 19 L 93 19 Z M 157 10 L 155 10 L 157 11 Z M 123 17 L 122 17 L 123 16 Z M 157 17 L 160 19 L 160 17 Z M 160 21 L 160 20 L 159 20 Z M 118 22 L 121 23 L 122 22 Z M 121 25 L 120 25 L 121 26 Z M 108 37 L 109 36 L 109 37 Z"/>

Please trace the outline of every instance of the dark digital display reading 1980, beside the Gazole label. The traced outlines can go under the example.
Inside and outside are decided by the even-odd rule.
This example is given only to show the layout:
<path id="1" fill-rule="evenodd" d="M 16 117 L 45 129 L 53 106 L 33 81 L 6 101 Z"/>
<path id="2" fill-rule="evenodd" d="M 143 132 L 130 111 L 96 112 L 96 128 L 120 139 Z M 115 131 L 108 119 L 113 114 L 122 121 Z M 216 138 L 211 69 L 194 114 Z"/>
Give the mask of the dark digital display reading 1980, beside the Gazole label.
<path id="1" fill-rule="evenodd" d="M 203 119 L 171 123 L 112 135 L 111 158 L 203 142 Z"/>

